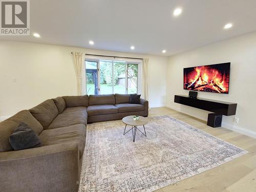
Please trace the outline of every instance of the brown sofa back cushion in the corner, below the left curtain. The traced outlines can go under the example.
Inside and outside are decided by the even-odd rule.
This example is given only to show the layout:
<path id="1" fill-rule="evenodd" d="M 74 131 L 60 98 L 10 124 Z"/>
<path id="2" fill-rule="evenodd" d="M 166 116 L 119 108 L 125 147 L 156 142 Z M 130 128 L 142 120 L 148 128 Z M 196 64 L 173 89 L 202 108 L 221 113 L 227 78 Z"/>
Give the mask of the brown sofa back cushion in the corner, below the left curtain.
<path id="1" fill-rule="evenodd" d="M 72 108 L 74 106 L 88 106 L 89 105 L 88 95 L 63 96 L 62 98 L 65 100 L 67 108 Z"/>

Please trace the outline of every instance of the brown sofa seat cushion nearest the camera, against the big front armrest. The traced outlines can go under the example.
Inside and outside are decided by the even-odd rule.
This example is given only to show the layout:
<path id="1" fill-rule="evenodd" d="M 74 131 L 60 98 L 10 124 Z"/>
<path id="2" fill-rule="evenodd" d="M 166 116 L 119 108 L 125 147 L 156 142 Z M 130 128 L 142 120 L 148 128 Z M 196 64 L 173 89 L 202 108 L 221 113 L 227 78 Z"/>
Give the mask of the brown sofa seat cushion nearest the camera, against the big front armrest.
<path id="1" fill-rule="evenodd" d="M 75 141 L 79 146 L 79 156 L 82 157 L 86 144 L 86 126 L 84 124 L 76 124 L 52 130 L 44 130 L 39 135 L 39 138 L 42 146 Z"/>

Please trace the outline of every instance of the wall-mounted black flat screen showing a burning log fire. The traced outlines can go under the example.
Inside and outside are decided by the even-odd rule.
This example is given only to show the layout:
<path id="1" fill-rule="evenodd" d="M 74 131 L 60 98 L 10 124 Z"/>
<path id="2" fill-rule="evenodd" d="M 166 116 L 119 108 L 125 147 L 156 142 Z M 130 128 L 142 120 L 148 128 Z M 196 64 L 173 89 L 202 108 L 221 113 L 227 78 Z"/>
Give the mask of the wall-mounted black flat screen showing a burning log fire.
<path id="1" fill-rule="evenodd" d="M 230 62 L 184 68 L 183 72 L 185 90 L 228 94 Z"/>

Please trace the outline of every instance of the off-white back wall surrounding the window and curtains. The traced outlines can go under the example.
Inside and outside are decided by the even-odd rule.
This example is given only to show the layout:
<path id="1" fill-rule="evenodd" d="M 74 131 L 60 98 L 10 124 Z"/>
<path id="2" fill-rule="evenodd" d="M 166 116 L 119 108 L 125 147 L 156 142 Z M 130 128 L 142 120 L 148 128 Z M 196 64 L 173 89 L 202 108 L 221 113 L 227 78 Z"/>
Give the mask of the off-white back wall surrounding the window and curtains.
<path id="1" fill-rule="evenodd" d="M 150 104 L 152 107 L 165 105 L 167 57 L 0 41 L 0 120 L 49 98 L 76 95 L 72 51 L 148 57 Z M 16 78 L 16 82 L 12 82 L 12 78 Z"/>

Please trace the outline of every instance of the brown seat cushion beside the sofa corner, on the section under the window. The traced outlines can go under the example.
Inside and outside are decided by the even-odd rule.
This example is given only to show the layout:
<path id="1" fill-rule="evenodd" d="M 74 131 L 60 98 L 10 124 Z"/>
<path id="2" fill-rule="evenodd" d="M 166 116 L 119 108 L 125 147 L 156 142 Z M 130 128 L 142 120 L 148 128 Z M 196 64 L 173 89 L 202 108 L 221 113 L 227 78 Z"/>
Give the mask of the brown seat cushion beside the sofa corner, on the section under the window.
<path id="1" fill-rule="evenodd" d="M 87 108 L 88 116 L 105 115 L 118 113 L 117 108 L 113 104 L 90 105 Z"/>

